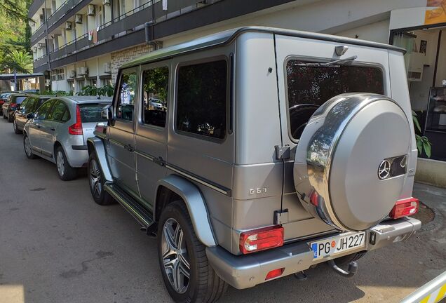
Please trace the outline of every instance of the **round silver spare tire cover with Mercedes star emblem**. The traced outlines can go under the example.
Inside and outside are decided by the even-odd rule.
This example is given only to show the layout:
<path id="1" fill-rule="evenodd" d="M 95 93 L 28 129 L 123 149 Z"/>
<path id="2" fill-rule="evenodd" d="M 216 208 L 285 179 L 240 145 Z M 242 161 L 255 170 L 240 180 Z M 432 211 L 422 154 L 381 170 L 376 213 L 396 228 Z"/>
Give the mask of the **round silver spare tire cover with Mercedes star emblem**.
<path id="1" fill-rule="evenodd" d="M 325 102 L 297 144 L 297 194 L 313 217 L 363 231 L 398 200 L 412 137 L 403 109 L 384 95 L 348 93 Z"/>

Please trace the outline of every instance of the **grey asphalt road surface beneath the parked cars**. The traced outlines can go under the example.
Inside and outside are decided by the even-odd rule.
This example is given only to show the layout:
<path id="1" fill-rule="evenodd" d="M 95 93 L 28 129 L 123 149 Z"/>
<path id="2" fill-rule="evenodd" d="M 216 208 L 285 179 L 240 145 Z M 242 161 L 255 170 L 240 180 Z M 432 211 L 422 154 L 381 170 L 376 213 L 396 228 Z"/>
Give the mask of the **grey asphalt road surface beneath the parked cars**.
<path id="1" fill-rule="evenodd" d="M 221 302 L 398 302 L 446 269 L 446 191 L 417 191 L 441 206 L 435 224 L 368 253 L 353 278 L 322 265 L 303 282 L 229 288 Z M 14 302 L 171 301 L 156 240 L 121 206 L 97 206 L 85 174 L 62 182 L 52 163 L 27 159 L 22 135 L 0 117 L 0 303 Z"/>

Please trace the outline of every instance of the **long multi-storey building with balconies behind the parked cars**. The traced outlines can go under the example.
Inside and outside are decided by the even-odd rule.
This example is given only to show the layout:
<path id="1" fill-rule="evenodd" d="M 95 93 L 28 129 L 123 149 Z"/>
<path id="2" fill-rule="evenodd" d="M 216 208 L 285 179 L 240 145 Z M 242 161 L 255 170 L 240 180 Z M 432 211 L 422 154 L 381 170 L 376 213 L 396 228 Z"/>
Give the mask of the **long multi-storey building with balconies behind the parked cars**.
<path id="1" fill-rule="evenodd" d="M 45 72 L 51 89 L 76 93 L 114 83 L 119 66 L 142 53 L 247 25 L 388 43 L 392 12 L 414 7 L 426 0 L 35 0 L 34 72 Z"/>

